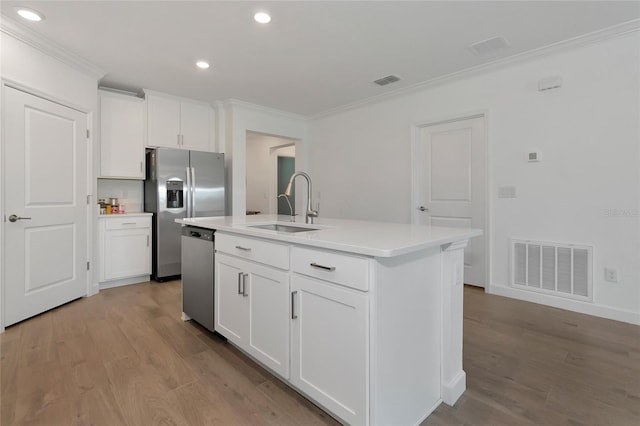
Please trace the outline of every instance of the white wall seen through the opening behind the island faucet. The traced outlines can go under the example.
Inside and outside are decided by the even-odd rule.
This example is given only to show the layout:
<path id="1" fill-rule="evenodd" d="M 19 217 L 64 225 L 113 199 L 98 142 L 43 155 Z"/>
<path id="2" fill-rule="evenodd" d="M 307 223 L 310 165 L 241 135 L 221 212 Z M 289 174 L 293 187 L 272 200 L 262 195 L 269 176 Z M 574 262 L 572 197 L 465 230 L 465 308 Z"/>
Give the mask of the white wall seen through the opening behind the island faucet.
<path id="1" fill-rule="evenodd" d="M 295 157 L 294 140 L 247 135 L 247 210 L 277 213 L 277 156 Z M 289 145 L 283 148 L 285 145 Z"/>

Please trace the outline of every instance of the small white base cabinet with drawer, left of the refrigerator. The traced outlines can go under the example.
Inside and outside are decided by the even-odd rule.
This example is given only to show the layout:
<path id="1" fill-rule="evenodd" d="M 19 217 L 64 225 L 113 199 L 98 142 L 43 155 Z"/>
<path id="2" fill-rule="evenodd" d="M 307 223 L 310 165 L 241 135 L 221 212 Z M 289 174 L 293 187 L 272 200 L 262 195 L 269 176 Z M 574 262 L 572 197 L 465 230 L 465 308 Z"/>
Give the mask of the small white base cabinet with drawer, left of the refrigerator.
<path id="1" fill-rule="evenodd" d="M 101 288 L 149 280 L 151 215 L 100 216 L 98 242 Z"/>

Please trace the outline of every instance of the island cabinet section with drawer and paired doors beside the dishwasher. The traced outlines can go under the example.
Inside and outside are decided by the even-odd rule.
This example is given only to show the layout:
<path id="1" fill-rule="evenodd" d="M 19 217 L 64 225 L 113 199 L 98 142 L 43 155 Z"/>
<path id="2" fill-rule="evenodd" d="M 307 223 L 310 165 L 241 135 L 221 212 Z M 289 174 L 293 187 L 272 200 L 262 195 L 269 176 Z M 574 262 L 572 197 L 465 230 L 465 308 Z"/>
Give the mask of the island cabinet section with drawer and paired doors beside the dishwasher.
<path id="1" fill-rule="evenodd" d="M 215 328 L 288 378 L 289 273 L 259 263 L 274 257 L 288 268 L 285 245 L 216 234 Z"/>

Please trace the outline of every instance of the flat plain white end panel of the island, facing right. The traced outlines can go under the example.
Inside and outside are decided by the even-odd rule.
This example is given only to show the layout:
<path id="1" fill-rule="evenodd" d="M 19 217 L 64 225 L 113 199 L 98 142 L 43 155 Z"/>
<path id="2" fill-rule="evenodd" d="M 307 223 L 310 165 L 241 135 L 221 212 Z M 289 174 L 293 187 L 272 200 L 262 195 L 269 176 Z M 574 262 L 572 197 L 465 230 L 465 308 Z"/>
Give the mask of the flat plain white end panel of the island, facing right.
<path id="1" fill-rule="evenodd" d="M 440 404 L 440 247 L 375 258 L 371 424 L 418 424 Z"/>

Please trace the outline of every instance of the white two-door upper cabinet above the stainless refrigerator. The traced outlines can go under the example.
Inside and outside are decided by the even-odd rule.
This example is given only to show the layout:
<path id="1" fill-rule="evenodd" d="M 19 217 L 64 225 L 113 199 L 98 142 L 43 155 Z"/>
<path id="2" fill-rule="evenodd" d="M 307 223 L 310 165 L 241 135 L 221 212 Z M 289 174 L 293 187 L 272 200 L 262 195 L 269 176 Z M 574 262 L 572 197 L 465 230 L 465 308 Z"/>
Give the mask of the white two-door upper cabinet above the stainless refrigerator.
<path id="1" fill-rule="evenodd" d="M 145 90 L 147 146 L 211 150 L 213 109 L 205 102 Z"/>

